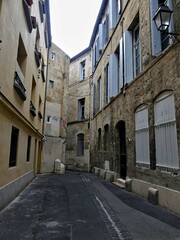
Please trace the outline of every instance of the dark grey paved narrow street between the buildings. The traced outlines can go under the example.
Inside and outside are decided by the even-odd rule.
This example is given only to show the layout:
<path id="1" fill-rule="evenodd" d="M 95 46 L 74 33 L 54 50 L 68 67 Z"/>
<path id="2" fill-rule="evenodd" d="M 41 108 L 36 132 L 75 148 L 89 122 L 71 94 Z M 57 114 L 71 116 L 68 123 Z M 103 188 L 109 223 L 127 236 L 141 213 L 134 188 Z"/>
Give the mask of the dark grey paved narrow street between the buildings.
<path id="1" fill-rule="evenodd" d="M 2 240 L 180 240 L 180 216 L 93 174 L 43 174 L 0 213 Z"/>

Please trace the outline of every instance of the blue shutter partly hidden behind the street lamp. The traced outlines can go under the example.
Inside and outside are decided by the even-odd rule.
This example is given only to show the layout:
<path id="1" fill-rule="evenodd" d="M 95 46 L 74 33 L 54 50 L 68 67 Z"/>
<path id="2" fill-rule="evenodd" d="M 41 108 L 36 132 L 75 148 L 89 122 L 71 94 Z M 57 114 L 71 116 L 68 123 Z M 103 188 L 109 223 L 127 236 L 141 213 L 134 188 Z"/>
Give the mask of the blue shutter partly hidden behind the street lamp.
<path id="1" fill-rule="evenodd" d="M 153 17 L 159 5 L 157 0 L 150 0 L 150 22 L 151 22 L 151 41 L 152 41 L 152 55 L 157 56 L 161 51 L 161 35 L 157 30 Z"/>

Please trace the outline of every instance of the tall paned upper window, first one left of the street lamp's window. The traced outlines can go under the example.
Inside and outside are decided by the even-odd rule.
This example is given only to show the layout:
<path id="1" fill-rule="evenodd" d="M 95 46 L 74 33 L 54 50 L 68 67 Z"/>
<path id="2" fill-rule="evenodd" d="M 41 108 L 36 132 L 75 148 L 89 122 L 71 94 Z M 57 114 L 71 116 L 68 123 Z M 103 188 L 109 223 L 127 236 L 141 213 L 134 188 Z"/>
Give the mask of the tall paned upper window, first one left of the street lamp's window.
<path id="1" fill-rule="evenodd" d="M 134 53 L 134 76 L 140 73 L 140 41 L 139 41 L 139 25 L 137 25 L 133 30 L 133 53 Z"/>

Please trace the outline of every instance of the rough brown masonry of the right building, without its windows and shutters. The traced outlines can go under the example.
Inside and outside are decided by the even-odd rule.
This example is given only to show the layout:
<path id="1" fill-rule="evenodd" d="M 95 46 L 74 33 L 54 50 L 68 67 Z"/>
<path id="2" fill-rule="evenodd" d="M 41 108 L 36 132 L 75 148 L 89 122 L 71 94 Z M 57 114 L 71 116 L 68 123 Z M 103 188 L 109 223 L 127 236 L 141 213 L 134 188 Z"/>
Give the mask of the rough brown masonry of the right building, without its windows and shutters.
<path id="1" fill-rule="evenodd" d="M 174 2 L 175 3 L 175 2 Z M 177 3 L 179 4 L 179 3 Z M 178 5 L 177 5 L 178 8 Z M 177 11 L 176 8 L 176 11 Z M 113 53 L 133 19 L 139 12 L 140 46 L 141 46 L 141 73 L 133 81 L 124 86 L 120 93 L 105 105 L 105 84 L 102 83 L 103 108 L 95 116 L 91 114 L 91 164 L 102 168 L 105 160 L 110 161 L 110 170 L 116 171 L 120 176 L 120 142 L 118 124 L 125 122 L 127 176 L 138 177 L 142 180 L 156 184 L 171 186 L 180 189 L 179 170 L 162 169 L 154 167 L 155 138 L 154 138 L 154 101 L 156 97 L 166 90 L 172 90 L 175 96 L 176 125 L 178 135 L 178 148 L 180 153 L 180 45 L 167 48 L 158 57 L 151 55 L 151 31 L 149 1 L 129 1 L 123 13 L 121 21 L 112 33 L 109 44 L 105 48 L 102 57 L 93 75 L 93 83 L 101 77 L 104 81 L 104 68 L 108 63 L 108 56 Z M 175 19 L 175 22 L 177 19 Z M 176 28 L 178 25 L 175 25 Z M 141 105 L 148 106 L 149 134 L 150 134 L 150 166 L 136 166 L 135 159 L 135 111 Z M 108 150 L 104 151 L 104 126 L 109 124 Z M 101 149 L 98 149 L 98 129 L 102 130 Z M 171 172 L 171 174 L 169 174 Z M 156 177 L 157 175 L 157 177 Z M 178 176 L 177 176 L 178 175 Z M 166 178 L 167 177 L 167 178 Z"/>

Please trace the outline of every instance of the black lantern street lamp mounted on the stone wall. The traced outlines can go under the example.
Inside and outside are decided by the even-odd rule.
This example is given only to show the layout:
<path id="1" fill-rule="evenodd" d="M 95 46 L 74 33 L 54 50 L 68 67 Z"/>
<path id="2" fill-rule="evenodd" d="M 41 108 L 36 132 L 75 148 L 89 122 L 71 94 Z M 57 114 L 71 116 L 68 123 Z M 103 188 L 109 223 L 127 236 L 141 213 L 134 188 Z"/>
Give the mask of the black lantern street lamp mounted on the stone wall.
<path id="1" fill-rule="evenodd" d="M 163 3 L 160 5 L 158 10 L 156 11 L 156 13 L 153 17 L 153 20 L 155 22 L 155 25 L 156 25 L 156 28 L 158 31 L 164 32 L 166 34 L 170 34 L 173 36 L 180 35 L 180 33 L 167 32 L 169 25 L 170 25 L 172 13 L 173 13 L 173 11 Z M 180 41 L 180 40 L 178 40 L 178 41 Z"/>

